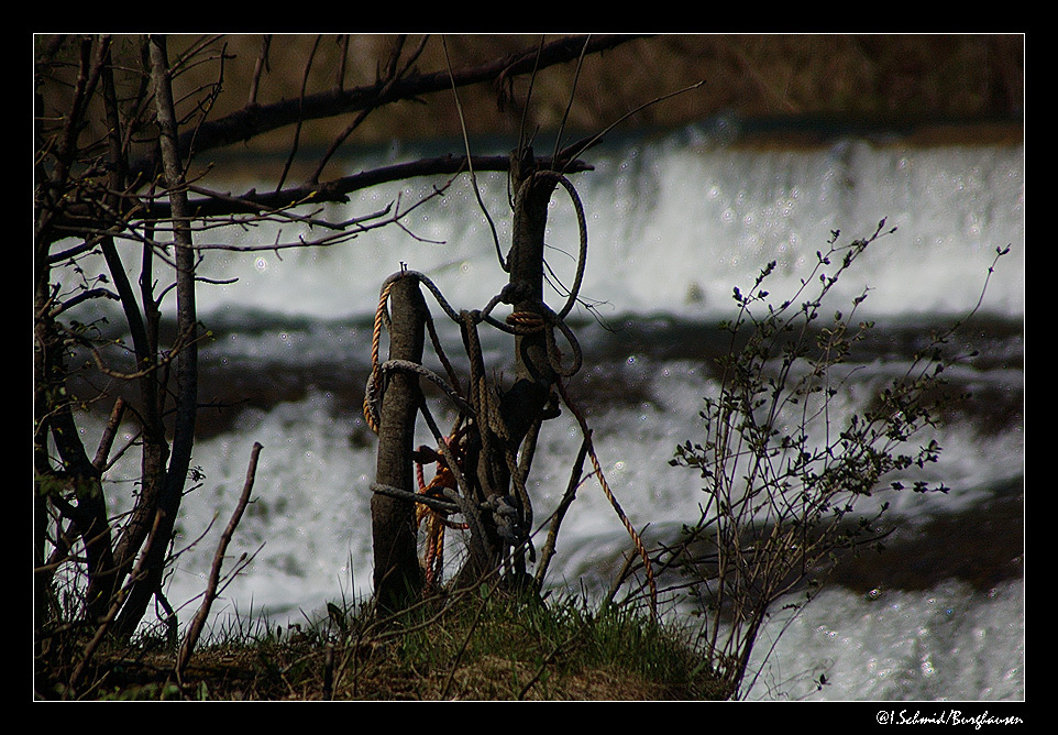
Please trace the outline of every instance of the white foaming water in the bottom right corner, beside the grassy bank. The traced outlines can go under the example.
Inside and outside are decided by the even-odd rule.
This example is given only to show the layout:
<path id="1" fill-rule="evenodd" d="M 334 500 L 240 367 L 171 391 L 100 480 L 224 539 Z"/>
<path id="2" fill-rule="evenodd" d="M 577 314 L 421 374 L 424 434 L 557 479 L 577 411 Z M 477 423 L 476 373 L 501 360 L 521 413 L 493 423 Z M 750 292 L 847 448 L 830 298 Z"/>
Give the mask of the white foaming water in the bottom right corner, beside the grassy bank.
<path id="1" fill-rule="evenodd" d="M 1024 635 L 1021 581 L 984 593 L 955 582 L 925 593 L 827 590 L 764 628 L 748 698 L 1017 701 Z"/>

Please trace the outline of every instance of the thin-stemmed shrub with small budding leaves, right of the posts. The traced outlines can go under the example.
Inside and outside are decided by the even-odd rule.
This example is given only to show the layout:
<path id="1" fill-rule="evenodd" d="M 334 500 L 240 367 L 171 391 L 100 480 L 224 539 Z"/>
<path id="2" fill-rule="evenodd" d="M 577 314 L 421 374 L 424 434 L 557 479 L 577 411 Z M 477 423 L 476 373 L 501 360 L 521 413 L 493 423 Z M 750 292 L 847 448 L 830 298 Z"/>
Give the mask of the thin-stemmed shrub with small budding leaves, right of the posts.
<path id="1" fill-rule="evenodd" d="M 809 278 L 779 306 L 764 288 L 774 262 L 748 293 L 735 288 L 737 316 L 721 325 L 730 352 L 718 361 L 716 395 L 701 410 L 705 438 L 687 440 L 670 460 L 701 473 L 705 501 L 697 522 L 664 550 L 664 566 L 694 580 L 705 611 L 701 637 L 732 698 L 745 693 L 750 654 L 772 604 L 801 589 L 804 597 L 790 605 L 800 608 L 837 552 L 878 541 L 877 522 L 889 503 L 863 513 L 863 498 L 886 490 L 948 491 L 906 478 L 941 451 L 934 438 L 908 447 L 937 426 L 952 399 L 943 390 L 944 371 L 957 358 L 941 348 L 958 325 L 934 334 L 866 408 L 849 412 L 837 403 L 851 374 L 849 356 L 874 325 L 856 320 L 867 290 L 829 320 L 824 303 L 857 257 L 892 231 L 882 220 L 871 237 L 847 245 L 833 232 Z M 1007 250 L 998 250 L 996 260 Z"/>

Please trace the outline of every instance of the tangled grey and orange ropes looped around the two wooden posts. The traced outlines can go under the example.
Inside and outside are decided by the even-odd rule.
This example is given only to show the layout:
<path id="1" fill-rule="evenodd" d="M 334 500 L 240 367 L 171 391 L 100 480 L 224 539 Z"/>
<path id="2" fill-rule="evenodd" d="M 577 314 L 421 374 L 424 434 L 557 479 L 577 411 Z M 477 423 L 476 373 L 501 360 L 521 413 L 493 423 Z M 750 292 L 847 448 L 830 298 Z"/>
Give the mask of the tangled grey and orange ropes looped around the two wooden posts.
<path id="1" fill-rule="evenodd" d="M 560 185 L 565 188 L 573 202 L 580 234 L 576 273 L 572 287 L 566 295 L 565 304 L 558 312 L 553 311 L 536 295 L 532 286 L 521 281 L 514 281 L 506 284 L 497 295 L 488 300 L 484 308 L 480 310 L 464 309 L 460 311 L 456 311 L 452 305 L 449 304 L 440 288 L 438 288 L 430 278 L 417 271 L 406 270 L 404 264 L 401 264 L 401 270 L 398 273 L 394 273 L 384 282 L 378 298 L 378 306 L 375 311 L 372 332 L 371 374 L 364 393 L 364 417 L 367 425 L 376 434 L 378 432 L 382 394 L 385 391 L 385 377 L 386 374 L 392 371 L 415 373 L 434 383 L 448 396 L 452 404 L 455 405 L 459 410 L 459 419 L 456 421 L 456 428 L 453 429 L 452 434 L 448 437 L 442 436 L 437 427 L 437 423 L 433 420 L 426 399 L 420 395 L 419 408 L 430 430 L 433 432 L 434 438 L 438 440 L 438 449 L 434 451 L 427 447 L 420 447 L 419 450 L 414 452 L 411 459 L 417 465 L 416 473 L 419 492 L 405 493 L 405 491 L 378 484 L 372 485 L 372 490 L 374 492 L 406 497 L 406 500 L 411 500 L 418 504 L 418 520 L 420 523 L 426 522 L 427 524 L 426 570 L 428 586 L 430 588 L 432 588 L 434 583 L 438 583 L 441 578 L 444 528 L 463 528 L 469 531 L 471 559 L 475 562 L 475 566 L 482 570 L 498 563 L 497 553 L 502 553 L 505 557 L 510 553 L 510 558 L 514 558 L 515 552 L 510 551 L 510 549 L 518 548 L 522 545 L 528 545 L 530 558 L 534 558 L 529 534 L 532 525 L 532 507 L 528 489 L 526 487 L 526 478 L 529 471 L 529 462 L 531 461 L 532 446 L 536 442 L 536 429 L 531 431 L 531 438 L 521 443 L 520 450 L 517 446 L 514 446 L 514 438 L 510 436 L 510 430 L 500 412 L 502 394 L 496 385 L 491 384 L 486 375 L 477 325 L 485 321 L 502 331 L 515 336 L 539 334 L 543 332 L 548 361 L 556 376 L 554 387 L 559 396 L 561 396 L 561 399 L 575 416 L 584 434 L 584 451 L 586 451 L 593 465 L 594 474 L 602 486 L 603 493 L 606 495 L 618 518 L 631 537 L 636 550 L 642 558 L 647 582 L 650 588 L 651 608 L 657 613 L 657 586 L 650 556 L 642 539 L 610 490 L 592 443 L 592 432 L 583 415 L 570 399 L 563 385 L 564 379 L 571 377 L 578 372 L 583 364 L 580 343 L 573 330 L 565 322 L 565 318 L 578 300 L 584 277 L 584 267 L 587 257 L 587 228 L 584 208 L 573 184 L 561 172 L 555 171 L 534 172 L 526 179 L 517 193 L 517 196 L 527 196 L 529 193 L 527 188 L 528 185 L 531 182 L 540 180 L 550 180 L 554 185 Z M 503 263 L 502 256 L 500 262 Z M 382 329 L 383 327 L 388 329 L 390 326 L 387 304 L 392 287 L 398 279 L 409 277 L 415 278 L 430 290 L 444 314 L 461 328 L 466 356 L 470 360 L 470 381 L 465 395 L 461 392 L 460 380 L 441 349 L 441 343 L 437 336 L 429 309 L 427 309 L 426 315 L 427 327 L 429 328 L 437 353 L 448 372 L 449 380 L 445 381 L 437 373 L 415 362 L 406 360 L 388 360 L 383 362 L 379 359 Z M 514 307 L 511 314 L 502 321 L 491 316 L 492 311 L 499 304 Z M 558 347 L 555 330 L 562 332 L 562 336 L 569 343 L 569 350 L 572 353 L 572 360 L 569 365 L 563 365 L 563 353 Z M 556 408 L 556 406 L 554 406 L 554 408 Z M 539 427 L 541 418 L 545 417 L 537 418 L 537 427 Z M 464 419 L 472 419 L 473 424 L 464 424 Z M 469 456 L 476 456 L 470 453 L 471 445 L 466 443 L 469 429 L 475 431 L 475 439 L 480 439 L 481 442 L 480 446 L 473 449 L 473 452 L 480 452 L 485 464 L 478 463 L 478 460 L 473 460 L 471 461 L 471 467 L 463 467 Z M 461 445 L 461 440 L 463 440 L 464 443 Z M 522 440 L 519 439 L 519 441 Z M 521 462 L 525 465 L 524 468 L 519 464 L 519 451 L 522 454 Z M 527 456 L 529 459 L 526 459 Z M 580 461 L 581 460 L 578 460 L 578 468 Z M 499 487 L 499 484 L 503 482 L 499 476 L 503 468 L 497 470 L 496 465 L 503 462 L 506 463 L 506 473 L 504 476 L 509 476 L 508 482 L 513 483 L 513 489 L 509 486 L 507 489 Z M 422 476 L 422 465 L 428 463 L 436 463 L 438 468 L 433 480 L 429 484 L 426 483 Z M 475 475 L 475 470 L 482 472 L 482 468 L 484 468 L 485 476 Z M 577 472 L 580 472 L 580 469 L 577 469 Z M 492 489 L 495 489 L 495 491 Z M 510 490 L 511 494 L 502 494 L 505 493 L 506 490 Z M 496 494 L 483 501 L 487 492 L 496 492 Z M 452 514 L 462 516 L 463 523 L 449 520 L 448 516 Z M 486 535 L 486 526 L 489 535 Z M 491 533 L 493 528 L 495 528 L 495 535 Z M 493 548 L 493 544 L 488 541 L 489 538 L 495 539 L 497 536 L 503 547 L 500 549 Z"/>

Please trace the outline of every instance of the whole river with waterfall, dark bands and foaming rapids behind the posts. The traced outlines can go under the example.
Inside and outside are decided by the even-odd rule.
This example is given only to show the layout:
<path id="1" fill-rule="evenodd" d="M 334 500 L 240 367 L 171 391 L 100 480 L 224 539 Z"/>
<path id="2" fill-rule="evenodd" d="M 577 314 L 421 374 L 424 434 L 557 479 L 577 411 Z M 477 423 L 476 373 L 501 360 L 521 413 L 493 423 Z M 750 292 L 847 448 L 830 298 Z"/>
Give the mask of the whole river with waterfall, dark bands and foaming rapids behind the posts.
<path id="1" fill-rule="evenodd" d="M 696 517 L 701 479 L 669 460 L 676 445 L 703 436 L 698 410 L 715 385 L 717 325 L 734 316 L 732 288 L 746 290 L 764 263 L 776 262 L 769 283 L 778 301 L 796 292 L 834 231 L 850 241 L 882 219 L 896 228 L 831 294 L 835 308 L 847 308 L 870 289 L 858 314 L 875 320 L 875 336 L 849 382 L 852 396 L 906 364 L 929 330 L 971 310 L 996 249 L 1010 246 L 958 338 L 979 354 L 951 379 L 976 398 L 939 429 L 944 450 L 926 476 L 950 492 L 886 498 L 899 522 L 886 551 L 841 567 L 796 619 L 776 612 L 757 647 L 749 696 L 1023 699 L 1024 146 L 852 133 L 811 146 L 741 143 L 738 130 L 717 121 L 629 134 L 592 150 L 594 171 L 572 176 L 587 216 L 581 294 L 591 309 L 571 316 L 585 368 L 570 390 L 583 402 L 607 480 L 637 527 L 661 533 Z M 348 166 L 418 154 L 393 145 Z M 505 179 L 478 175 L 478 183 L 507 243 Z M 434 184 L 376 187 L 329 215 L 377 211 L 398 194 L 412 201 Z M 368 593 L 375 445 L 361 402 L 379 285 L 406 264 L 456 308 L 482 308 L 506 277 L 469 177 L 405 227 L 328 249 L 206 254 L 201 274 L 238 281 L 199 289 L 214 334 L 201 353 L 200 396 L 233 407 L 200 414 L 192 465 L 202 479 L 184 503 L 183 540 L 209 530 L 168 578 L 174 604 L 197 605 L 253 442 L 264 446 L 255 501 L 230 550 L 255 556 L 214 606 L 214 625 L 232 615 L 304 622 L 327 601 Z M 213 230 L 198 241 L 274 238 L 268 229 Z M 549 264 L 567 282 L 576 220 L 561 190 L 547 240 Z M 451 327 L 442 338 L 458 351 Z M 486 360 L 511 372 L 504 336 L 487 338 Z M 578 446 L 567 415 L 545 428 L 530 485 L 538 517 L 558 503 Z M 135 468 L 117 473 L 111 492 L 120 496 Z M 627 544 L 602 492 L 585 485 L 563 525 L 552 585 L 592 593 Z M 681 610 L 673 603 L 673 615 Z"/>

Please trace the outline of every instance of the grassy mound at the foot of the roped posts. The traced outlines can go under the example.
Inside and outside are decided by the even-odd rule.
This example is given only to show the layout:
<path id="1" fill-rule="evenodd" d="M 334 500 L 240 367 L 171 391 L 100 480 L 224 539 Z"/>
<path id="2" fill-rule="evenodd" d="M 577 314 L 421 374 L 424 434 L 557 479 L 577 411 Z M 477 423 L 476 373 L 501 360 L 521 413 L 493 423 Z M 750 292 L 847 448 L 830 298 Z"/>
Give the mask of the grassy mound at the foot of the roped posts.
<path id="1" fill-rule="evenodd" d="M 228 624 L 191 658 L 144 636 L 98 656 L 96 700 L 719 699 L 708 659 L 627 607 L 471 592 L 379 622 L 355 606 L 286 628 Z M 63 696 L 58 671 L 38 694 Z M 43 683 L 51 681 L 51 683 Z"/>

